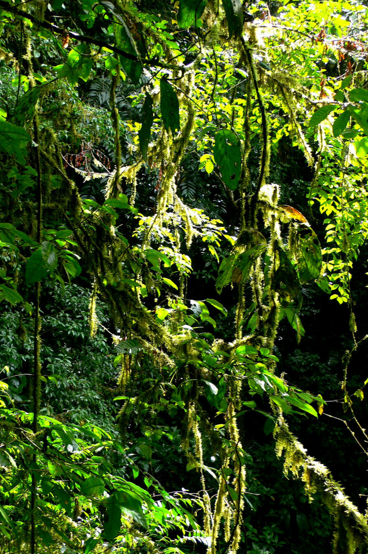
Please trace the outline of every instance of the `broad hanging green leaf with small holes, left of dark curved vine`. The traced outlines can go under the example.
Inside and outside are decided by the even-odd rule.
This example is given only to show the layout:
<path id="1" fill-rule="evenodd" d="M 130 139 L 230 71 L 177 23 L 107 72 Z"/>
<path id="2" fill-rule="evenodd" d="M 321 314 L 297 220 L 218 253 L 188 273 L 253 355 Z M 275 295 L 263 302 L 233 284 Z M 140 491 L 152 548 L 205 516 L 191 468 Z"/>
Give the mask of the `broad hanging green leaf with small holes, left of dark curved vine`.
<path id="1" fill-rule="evenodd" d="M 233 132 L 222 129 L 215 136 L 215 162 L 220 167 L 222 179 L 231 191 L 235 191 L 241 173 L 240 141 Z"/>

